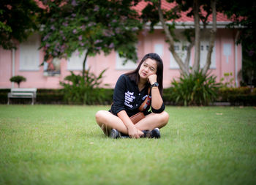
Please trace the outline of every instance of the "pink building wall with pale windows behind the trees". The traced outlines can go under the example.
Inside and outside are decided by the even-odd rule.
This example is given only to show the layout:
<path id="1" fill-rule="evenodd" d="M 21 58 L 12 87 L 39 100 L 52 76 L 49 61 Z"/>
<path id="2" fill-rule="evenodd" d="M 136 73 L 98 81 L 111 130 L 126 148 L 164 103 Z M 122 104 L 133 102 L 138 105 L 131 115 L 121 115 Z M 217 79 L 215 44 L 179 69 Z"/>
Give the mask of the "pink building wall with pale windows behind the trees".
<path id="1" fill-rule="evenodd" d="M 34 39 L 31 40 L 33 41 Z M 33 53 L 31 52 L 27 53 L 27 55 L 24 55 L 23 48 L 27 47 L 27 50 L 29 50 L 28 48 L 30 45 L 39 45 L 37 42 L 32 43 L 32 41 L 30 41 L 31 43 L 26 42 L 26 44 L 18 45 L 18 49 L 15 50 L 15 75 L 23 75 L 27 79 L 26 82 L 20 83 L 20 87 L 61 88 L 59 81 L 64 80 L 64 77 L 70 74 L 68 66 L 70 64 L 69 62 L 72 62 L 72 59 L 69 61 L 65 59 L 60 60 L 60 74 L 56 76 L 44 75 L 45 72 L 43 66 L 37 67 L 37 65 L 34 65 L 34 69 L 20 69 L 24 65 L 25 68 L 26 66 L 29 68 L 29 64 L 20 64 L 20 60 L 23 60 L 24 63 L 24 58 L 26 57 L 36 57 L 36 59 L 30 60 L 30 62 L 39 61 L 39 64 L 42 64 L 43 62 L 42 50 L 39 50 L 38 53 L 33 51 Z M 235 42 L 236 31 L 218 29 L 213 55 L 214 65 L 211 67 L 211 74 L 217 75 L 217 80 L 223 78 L 226 72 L 232 72 L 233 76 L 231 78 L 235 78 L 234 75 L 236 75 L 241 69 L 241 45 L 236 45 Z M 164 62 L 164 88 L 170 86 L 171 80 L 173 78 L 179 77 L 179 69 L 177 69 L 177 64 L 171 57 L 170 51 L 168 50 L 168 45 L 165 42 L 165 35 L 162 34 L 162 30 L 156 30 L 154 31 L 154 34 L 143 31 L 143 33 L 139 36 L 137 47 L 138 62 L 146 53 L 155 52 L 159 53 L 161 56 Z M 179 47 L 179 49 L 181 49 L 181 45 Z M 37 47 L 34 46 L 34 48 Z M 206 45 L 203 49 L 206 49 Z M 34 49 L 31 48 L 31 50 Z M 36 53 L 36 55 L 34 53 Z M 193 58 L 193 56 L 194 49 L 192 49 L 191 58 Z M 78 58 L 78 56 L 75 57 Z M 82 61 L 83 58 L 81 57 L 80 62 Z M 118 62 L 120 63 L 121 59 L 118 58 L 116 52 L 113 51 L 108 56 L 105 56 L 104 53 L 101 53 L 97 56 L 89 57 L 86 61 L 86 67 L 90 67 L 91 72 L 94 72 L 96 75 L 99 75 L 103 69 L 107 69 L 105 72 L 105 77 L 103 78 L 103 83 L 108 83 L 109 87 L 113 88 L 116 84 L 116 80 L 121 74 L 135 69 L 136 67 L 136 64 L 127 64 L 123 67 Z M 193 61 L 191 60 L 191 64 L 192 63 Z M 74 72 L 78 74 L 80 70 L 74 70 Z M 0 48 L 0 88 L 11 88 L 12 83 L 10 83 L 9 80 L 11 77 L 12 52 L 10 50 L 4 50 Z M 237 81 L 239 81 L 239 79 L 237 79 Z"/>

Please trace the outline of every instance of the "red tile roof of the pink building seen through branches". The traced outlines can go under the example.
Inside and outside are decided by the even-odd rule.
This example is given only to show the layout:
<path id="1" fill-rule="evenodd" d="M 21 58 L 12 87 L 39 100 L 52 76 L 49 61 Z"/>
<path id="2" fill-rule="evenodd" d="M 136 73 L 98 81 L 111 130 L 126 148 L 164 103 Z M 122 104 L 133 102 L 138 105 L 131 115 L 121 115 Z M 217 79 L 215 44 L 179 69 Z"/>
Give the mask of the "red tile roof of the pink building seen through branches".
<path id="1" fill-rule="evenodd" d="M 136 6 L 135 6 L 135 10 L 138 12 L 141 12 L 146 5 L 149 2 L 146 1 L 140 1 Z M 168 3 L 167 1 L 163 0 L 161 7 L 164 10 L 170 10 L 173 7 L 176 6 L 176 3 Z M 212 21 L 212 15 L 208 16 L 208 21 Z M 217 12 L 217 22 L 230 22 L 231 20 L 227 18 L 226 15 L 224 15 L 223 13 Z M 187 17 L 187 12 L 181 12 L 181 18 L 178 18 L 176 20 L 176 22 L 194 22 L 194 18 L 193 17 Z"/>

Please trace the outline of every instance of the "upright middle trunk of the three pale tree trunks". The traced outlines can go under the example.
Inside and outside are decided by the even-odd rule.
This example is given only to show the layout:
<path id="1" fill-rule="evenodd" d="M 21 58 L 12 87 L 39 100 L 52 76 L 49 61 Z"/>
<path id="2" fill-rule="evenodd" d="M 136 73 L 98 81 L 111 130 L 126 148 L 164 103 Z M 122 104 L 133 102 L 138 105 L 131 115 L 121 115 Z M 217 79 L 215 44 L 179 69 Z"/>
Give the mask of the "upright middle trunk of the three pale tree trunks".
<path id="1" fill-rule="evenodd" d="M 200 19 L 199 19 L 199 3 L 198 0 L 193 2 L 194 23 L 195 23 L 195 60 L 192 72 L 200 69 Z"/>

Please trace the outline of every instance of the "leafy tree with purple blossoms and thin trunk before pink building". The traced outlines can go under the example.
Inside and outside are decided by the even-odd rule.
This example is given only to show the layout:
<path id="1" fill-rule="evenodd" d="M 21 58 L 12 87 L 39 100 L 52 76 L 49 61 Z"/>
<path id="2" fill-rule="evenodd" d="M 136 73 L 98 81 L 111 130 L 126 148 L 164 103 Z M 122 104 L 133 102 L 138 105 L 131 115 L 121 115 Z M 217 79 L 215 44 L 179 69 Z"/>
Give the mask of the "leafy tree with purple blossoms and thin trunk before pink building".
<path id="1" fill-rule="evenodd" d="M 132 61 L 137 60 L 135 43 L 142 24 L 138 12 L 132 10 L 136 1 L 124 0 L 45 0 L 42 17 L 41 48 L 45 61 L 68 58 L 78 50 L 87 56 L 111 50 Z"/>

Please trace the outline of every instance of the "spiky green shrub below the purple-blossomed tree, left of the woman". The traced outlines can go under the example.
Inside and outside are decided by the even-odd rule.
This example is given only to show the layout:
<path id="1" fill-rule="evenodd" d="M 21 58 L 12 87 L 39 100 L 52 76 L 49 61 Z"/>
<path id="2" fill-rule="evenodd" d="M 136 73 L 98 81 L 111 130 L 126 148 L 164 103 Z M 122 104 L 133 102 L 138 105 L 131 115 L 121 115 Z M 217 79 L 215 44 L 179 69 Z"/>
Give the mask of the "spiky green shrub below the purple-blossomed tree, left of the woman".
<path id="1" fill-rule="evenodd" d="M 71 72 L 71 75 L 64 78 L 64 82 L 60 82 L 61 86 L 64 87 L 65 102 L 86 105 L 104 103 L 105 94 L 102 93 L 102 88 L 99 88 L 99 85 L 102 83 L 106 69 L 99 76 L 94 75 L 89 70 L 85 72 L 85 78 L 82 75 L 75 75 L 74 72 Z"/>

